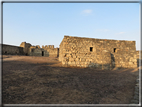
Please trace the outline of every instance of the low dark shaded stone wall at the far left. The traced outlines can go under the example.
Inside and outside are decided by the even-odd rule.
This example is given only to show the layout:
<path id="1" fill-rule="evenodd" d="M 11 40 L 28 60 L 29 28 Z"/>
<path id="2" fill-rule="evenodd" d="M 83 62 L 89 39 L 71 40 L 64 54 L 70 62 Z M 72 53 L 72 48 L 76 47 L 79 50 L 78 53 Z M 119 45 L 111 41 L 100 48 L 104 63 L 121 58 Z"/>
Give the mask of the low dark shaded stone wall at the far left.
<path id="1" fill-rule="evenodd" d="M 2 54 L 3 55 L 24 55 L 24 51 L 22 47 L 3 44 Z"/>

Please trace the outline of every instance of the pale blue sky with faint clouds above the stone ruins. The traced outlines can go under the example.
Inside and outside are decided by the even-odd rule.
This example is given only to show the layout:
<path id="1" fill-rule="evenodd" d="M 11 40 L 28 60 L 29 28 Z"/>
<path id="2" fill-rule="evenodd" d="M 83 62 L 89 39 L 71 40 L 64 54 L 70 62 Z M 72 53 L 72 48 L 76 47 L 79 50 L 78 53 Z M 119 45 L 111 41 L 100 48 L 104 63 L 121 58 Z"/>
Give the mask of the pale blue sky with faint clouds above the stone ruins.
<path id="1" fill-rule="evenodd" d="M 4 3 L 3 43 L 59 47 L 64 35 L 136 41 L 139 3 Z"/>

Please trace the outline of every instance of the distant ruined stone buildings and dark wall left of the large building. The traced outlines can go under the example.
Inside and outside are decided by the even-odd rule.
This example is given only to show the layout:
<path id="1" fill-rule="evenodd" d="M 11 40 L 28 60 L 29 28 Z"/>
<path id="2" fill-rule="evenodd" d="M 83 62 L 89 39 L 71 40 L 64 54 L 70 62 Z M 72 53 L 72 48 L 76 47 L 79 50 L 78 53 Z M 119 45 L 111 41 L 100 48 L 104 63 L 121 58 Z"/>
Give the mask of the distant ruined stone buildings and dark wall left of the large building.
<path id="1" fill-rule="evenodd" d="M 30 43 L 22 42 L 20 47 L 12 45 L 2 45 L 2 54 L 5 55 L 28 55 L 28 56 L 45 56 L 58 57 L 59 48 L 54 48 L 54 45 L 32 46 Z"/>

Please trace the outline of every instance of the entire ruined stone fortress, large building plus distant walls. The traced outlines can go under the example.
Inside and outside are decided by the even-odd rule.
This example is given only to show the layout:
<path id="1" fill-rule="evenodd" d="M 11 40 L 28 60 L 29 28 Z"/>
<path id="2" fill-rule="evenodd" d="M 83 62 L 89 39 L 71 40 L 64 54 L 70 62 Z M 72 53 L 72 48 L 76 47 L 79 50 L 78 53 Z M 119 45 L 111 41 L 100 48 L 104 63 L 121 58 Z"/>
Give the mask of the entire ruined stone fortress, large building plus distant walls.
<path id="1" fill-rule="evenodd" d="M 22 42 L 20 47 L 3 44 L 2 54 L 59 57 L 63 66 L 136 68 L 140 58 L 135 44 L 135 41 L 64 36 L 59 48 L 54 45 L 40 48 Z"/>

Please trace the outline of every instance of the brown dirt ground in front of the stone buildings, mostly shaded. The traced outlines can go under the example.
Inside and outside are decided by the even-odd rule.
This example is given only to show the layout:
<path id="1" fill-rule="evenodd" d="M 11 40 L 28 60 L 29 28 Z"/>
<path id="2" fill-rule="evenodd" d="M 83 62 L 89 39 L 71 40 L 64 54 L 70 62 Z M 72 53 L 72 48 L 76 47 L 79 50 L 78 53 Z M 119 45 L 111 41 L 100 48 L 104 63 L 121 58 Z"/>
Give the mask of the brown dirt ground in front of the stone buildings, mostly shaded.
<path id="1" fill-rule="evenodd" d="M 58 58 L 3 55 L 3 104 L 129 104 L 138 71 L 62 67 Z"/>

